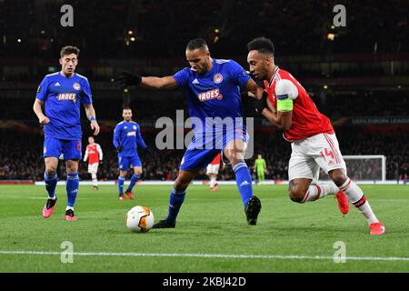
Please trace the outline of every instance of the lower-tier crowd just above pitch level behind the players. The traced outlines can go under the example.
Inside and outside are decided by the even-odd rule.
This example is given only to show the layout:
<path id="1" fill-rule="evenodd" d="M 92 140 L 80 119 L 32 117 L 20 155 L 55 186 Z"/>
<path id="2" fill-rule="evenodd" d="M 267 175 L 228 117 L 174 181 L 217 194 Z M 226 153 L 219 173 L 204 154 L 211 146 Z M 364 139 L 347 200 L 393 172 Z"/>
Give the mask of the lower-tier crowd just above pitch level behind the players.
<path id="1" fill-rule="evenodd" d="M 265 129 L 265 127 L 264 127 Z M 384 155 L 386 156 L 386 178 L 407 179 L 409 167 L 409 133 L 407 131 L 354 131 L 343 127 L 335 129 L 343 155 Z M 184 150 L 158 150 L 155 147 L 155 131 L 145 131 L 143 137 L 147 146 L 153 151 L 146 154 L 140 151 L 143 162 L 144 180 L 174 180 Z M 28 179 L 43 180 L 44 160 L 42 158 L 43 137 L 39 134 L 19 133 L 11 130 L 1 130 L 0 137 L 0 179 Z M 86 136 L 83 143 L 85 151 Z M 98 170 L 98 178 L 115 180 L 118 176 L 117 156 L 112 146 L 112 134 L 104 133 L 96 137 L 104 151 L 104 160 Z M 267 179 L 287 179 L 288 160 L 291 146 L 284 141 L 279 132 L 265 132 L 256 130 L 254 134 L 254 158 L 257 154 L 263 155 L 267 164 Z M 247 160 L 254 172 L 254 158 Z M 87 164 L 80 164 L 81 179 L 90 179 L 86 173 Z M 379 176 L 379 163 L 365 168 L 350 169 L 355 173 L 354 178 L 361 176 Z M 60 163 L 59 176 L 65 179 L 65 165 Z M 207 179 L 205 169 L 198 179 Z M 234 172 L 227 166 L 219 173 L 219 179 L 232 180 Z"/>

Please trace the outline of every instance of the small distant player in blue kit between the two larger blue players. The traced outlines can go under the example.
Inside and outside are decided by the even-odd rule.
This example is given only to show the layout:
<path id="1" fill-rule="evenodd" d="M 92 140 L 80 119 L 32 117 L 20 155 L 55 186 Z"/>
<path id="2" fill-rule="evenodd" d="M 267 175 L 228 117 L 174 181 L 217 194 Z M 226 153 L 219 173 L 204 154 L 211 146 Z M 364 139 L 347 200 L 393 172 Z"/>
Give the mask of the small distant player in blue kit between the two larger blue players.
<path id="1" fill-rule="evenodd" d="M 124 121 L 115 126 L 114 130 L 114 146 L 118 152 L 118 194 L 119 200 L 126 200 L 124 195 L 125 177 L 130 168 L 134 169 L 134 175 L 131 177 L 131 182 L 127 187 L 125 194 L 134 200 L 132 189 L 135 183 L 141 178 L 142 163 L 138 156 L 137 147 L 141 146 L 143 150 L 148 151 L 145 141 L 141 135 L 140 126 L 132 121 L 132 109 L 128 106 L 122 111 Z"/>

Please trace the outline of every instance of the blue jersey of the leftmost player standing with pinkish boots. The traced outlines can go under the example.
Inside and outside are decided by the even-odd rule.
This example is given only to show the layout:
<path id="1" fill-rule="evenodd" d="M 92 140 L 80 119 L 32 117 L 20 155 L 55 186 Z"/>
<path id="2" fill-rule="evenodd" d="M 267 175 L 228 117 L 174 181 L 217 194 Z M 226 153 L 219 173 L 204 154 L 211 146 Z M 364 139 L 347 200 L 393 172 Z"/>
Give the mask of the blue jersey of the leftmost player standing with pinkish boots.
<path id="1" fill-rule="evenodd" d="M 65 77 L 60 72 L 45 75 L 35 97 L 45 102 L 45 116 L 50 123 L 44 126 L 45 137 L 67 140 L 81 139 L 81 104 L 92 104 L 88 79 L 74 74 Z"/>

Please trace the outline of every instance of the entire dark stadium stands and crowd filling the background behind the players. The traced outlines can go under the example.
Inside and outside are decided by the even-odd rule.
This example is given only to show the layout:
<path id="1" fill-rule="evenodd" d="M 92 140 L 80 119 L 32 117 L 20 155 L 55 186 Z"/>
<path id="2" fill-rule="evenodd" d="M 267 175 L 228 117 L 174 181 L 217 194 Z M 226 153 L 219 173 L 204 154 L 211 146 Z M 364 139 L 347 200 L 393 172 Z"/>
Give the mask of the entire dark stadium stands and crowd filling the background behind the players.
<path id="1" fill-rule="evenodd" d="M 283 57 L 288 63 L 284 62 L 288 65 L 284 68 L 301 83 L 304 84 L 304 78 L 321 77 L 320 82 L 310 83 L 313 87 L 305 88 L 319 110 L 333 122 L 363 116 L 408 118 L 407 91 L 402 88 L 404 85 L 397 85 L 399 80 L 404 80 L 405 76 L 402 75 L 409 74 L 407 54 L 404 53 L 409 50 L 407 4 L 404 1 L 358 5 L 356 1 L 345 0 L 347 25 L 341 27 L 331 25 L 333 8 L 337 4 L 334 1 L 309 1 L 300 5 L 295 0 L 208 0 L 189 1 L 187 6 L 183 0 L 141 0 L 137 1 L 137 6 L 132 6 L 135 3 L 130 0 L 69 1 L 75 9 L 75 25 L 63 27 L 60 25 L 60 8 L 65 5 L 64 0 L 0 0 L 0 35 L 3 36 L 0 42 L 0 80 L 8 82 L 0 90 L 0 125 L 4 125 L 4 129 L 0 128 L 0 179 L 43 179 L 43 136 L 38 130 L 28 128 L 25 132 L 19 131 L 1 122 L 31 118 L 26 114 L 22 116 L 22 112 L 30 113 L 33 116 L 31 122 L 36 122 L 32 113 L 36 85 L 45 74 L 51 73 L 50 64 L 55 64 L 54 69 L 58 69 L 55 56 L 61 46 L 67 44 L 81 48 L 80 59 L 81 62 L 84 59 L 86 65 L 81 63 L 78 73 L 86 75 L 93 87 L 97 81 L 110 82 L 112 73 L 124 65 L 123 59 L 127 58 L 146 63 L 137 69 L 154 72 L 163 66 L 162 63 L 172 63 L 174 65 L 167 65 L 165 70 L 173 71 L 173 74 L 176 66 L 188 65 L 185 62 L 185 45 L 198 35 L 206 38 L 212 55 L 220 58 L 241 55 L 240 61 L 247 67 L 246 43 L 256 36 L 265 35 L 273 39 L 277 57 Z M 14 25 L 8 25 L 10 23 Z M 328 34 L 334 34 L 334 40 L 330 40 Z M 132 41 L 131 37 L 135 37 L 135 40 Z M 362 53 L 364 60 L 359 57 L 357 62 L 343 59 L 344 55 Z M 378 54 L 389 58 L 377 59 Z M 115 65 L 108 61 L 105 63 L 109 59 L 116 59 Z M 391 64 L 385 65 L 385 62 Z M 392 70 L 393 63 L 396 64 Z M 96 74 L 99 71 L 104 74 Z M 388 86 L 390 80 L 383 83 L 375 80 L 376 84 L 348 85 L 347 88 L 344 86 L 346 89 L 334 88 L 333 91 L 331 87 L 323 88 L 322 84 L 323 77 L 346 76 L 349 82 L 356 76 L 379 76 L 381 79 L 385 75 L 394 78 L 393 85 Z M 140 103 L 153 93 L 132 89 L 128 96 L 124 96 L 106 82 L 99 82 L 99 91 L 93 87 L 98 119 L 116 120 L 112 122 L 115 125 L 121 120 L 122 106 L 129 104 L 134 109 L 135 120 L 142 125 L 147 145 L 154 152 L 150 155 L 140 153 L 144 166 L 143 179 L 175 179 L 184 151 L 158 151 L 155 148 L 155 131 L 145 131 L 143 122 L 150 120 L 152 123 L 160 116 L 175 116 L 175 110 L 186 109 L 182 92 L 167 93 L 166 99 L 157 99 L 158 102 Z M 35 84 L 32 89 L 29 83 Z M 378 83 L 381 87 L 384 85 L 382 90 L 379 87 L 374 90 L 354 89 L 375 87 Z M 391 90 L 392 86 L 394 90 Z M 123 102 L 118 102 L 121 98 Z M 254 115 L 251 105 L 247 105 L 244 103 L 244 115 Z M 394 125 L 389 126 L 392 128 Z M 105 152 L 98 176 L 106 180 L 118 176 L 112 128 L 109 130 L 105 128 L 96 138 Z M 286 179 L 290 145 L 279 133 L 263 130 L 258 128 L 254 136 L 254 156 L 264 156 L 267 179 Z M 344 155 L 385 155 L 387 179 L 407 177 L 407 127 L 403 131 L 356 130 L 356 127 L 347 124 L 337 127 L 336 133 Z M 85 140 L 86 133 L 84 150 Z M 254 161 L 250 159 L 248 164 L 253 166 Z M 82 163 L 80 168 L 81 178 L 88 179 L 86 164 Z M 357 176 L 368 174 L 364 171 L 379 171 L 378 166 L 368 168 L 362 169 L 361 173 L 356 169 Z M 65 178 L 62 176 L 64 172 L 64 163 L 60 163 L 61 178 Z M 202 173 L 199 178 L 205 179 L 206 176 Z M 227 166 L 221 171 L 220 178 L 234 179 L 231 167 Z"/>

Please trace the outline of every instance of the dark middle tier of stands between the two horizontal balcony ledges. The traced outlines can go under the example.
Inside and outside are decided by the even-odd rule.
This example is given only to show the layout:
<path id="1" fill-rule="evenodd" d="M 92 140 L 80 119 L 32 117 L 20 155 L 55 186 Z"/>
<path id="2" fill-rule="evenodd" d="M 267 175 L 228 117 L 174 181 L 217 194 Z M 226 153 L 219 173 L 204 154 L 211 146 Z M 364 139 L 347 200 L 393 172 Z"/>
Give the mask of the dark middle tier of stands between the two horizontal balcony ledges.
<path id="1" fill-rule="evenodd" d="M 409 98 L 406 97 L 407 91 L 362 91 L 337 94 L 336 92 L 311 90 L 309 93 L 320 111 L 333 121 L 340 117 L 407 116 L 407 108 L 409 108 Z M 30 96 L 33 94 L 34 92 L 31 91 Z M 120 93 L 114 93 L 110 98 L 100 98 L 101 94 L 104 94 L 104 92 L 93 92 L 95 110 L 100 119 L 120 119 L 124 105 L 121 102 Z M 32 110 L 33 99 L 24 100 L 20 98 L 19 106 L 15 106 L 18 96 L 3 96 L 2 91 L 0 91 L 0 97 L 3 104 L 0 107 L 0 120 L 21 119 L 21 112 L 31 112 Z M 141 100 L 156 100 L 157 102 L 144 101 L 141 104 Z M 250 104 L 251 101 L 245 104 L 248 100 L 245 100 L 245 98 L 243 100 L 245 115 L 254 115 L 254 110 Z M 186 110 L 187 108 L 185 95 L 182 91 L 166 93 L 162 97 L 156 97 L 149 95 L 146 91 L 138 90 L 131 93 L 129 105 L 133 108 L 135 118 L 138 120 L 156 120 L 161 116 L 175 117 L 176 110 Z"/>

